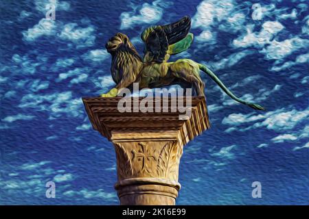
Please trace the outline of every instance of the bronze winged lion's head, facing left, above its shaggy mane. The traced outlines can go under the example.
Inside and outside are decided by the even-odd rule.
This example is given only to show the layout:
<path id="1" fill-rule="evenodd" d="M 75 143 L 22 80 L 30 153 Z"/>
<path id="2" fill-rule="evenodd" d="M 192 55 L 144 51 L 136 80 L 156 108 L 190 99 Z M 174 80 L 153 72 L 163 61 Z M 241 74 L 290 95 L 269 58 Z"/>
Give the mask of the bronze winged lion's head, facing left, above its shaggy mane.
<path id="1" fill-rule="evenodd" d="M 132 42 L 130 42 L 128 36 L 126 36 L 126 34 L 122 34 L 122 33 L 115 34 L 115 36 L 110 38 L 105 45 L 108 53 L 114 53 L 121 46 L 125 46 L 129 49 L 135 50 L 135 48 L 134 48 Z"/>

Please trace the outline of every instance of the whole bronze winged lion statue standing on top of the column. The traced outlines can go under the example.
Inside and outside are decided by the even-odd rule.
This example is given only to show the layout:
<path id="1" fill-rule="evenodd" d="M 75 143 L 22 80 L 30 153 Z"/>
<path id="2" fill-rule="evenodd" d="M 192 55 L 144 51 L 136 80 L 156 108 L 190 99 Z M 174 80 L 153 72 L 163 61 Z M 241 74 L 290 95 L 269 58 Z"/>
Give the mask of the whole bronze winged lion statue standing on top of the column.
<path id="1" fill-rule="evenodd" d="M 117 85 L 101 96 L 117 96 L 122 88 L 130 88 L 133 83 L 139 83 L 139 89 L 179 84 L 183 88 L 193 87 L 196 95 L 205 96 L 205 84 L 200 76 L 202 70 L 235 101 L 255 110 L 264 110 L 258 104 L 235 96 L 207 66 L 189 59 L 168 62 L 170 55 L 181 53 L 190 47 L 193 41 L 193 34 L 189 33 L 190 26 L 190 17 L 184 16 L 175 23 L 144 30 L 141 34 L 141 39 L 145 42 L 144 60 L 141 60 L 128 36 L 115 34 L 106 43 L 106 49 L 112 55 L 111 75 Z"/>

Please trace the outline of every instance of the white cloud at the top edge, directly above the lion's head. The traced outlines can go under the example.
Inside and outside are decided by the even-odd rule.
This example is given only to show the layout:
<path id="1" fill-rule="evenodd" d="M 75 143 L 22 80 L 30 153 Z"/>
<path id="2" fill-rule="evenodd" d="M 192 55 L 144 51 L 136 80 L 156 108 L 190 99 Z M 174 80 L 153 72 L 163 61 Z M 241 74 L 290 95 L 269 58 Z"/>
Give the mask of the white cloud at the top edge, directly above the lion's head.
<path id="1" fill-rule="evenodd" d="M 133 12 L 122 12 L 120 19 L 122 24 L 120 29 L 133 28 L 135 25 L 141 25 L 144 23 L 154 24 L 161 20 L 163 15 L 163 8 L 170 5 L 167 1 L 153 1 L 151 4 L 144 3 L 141 5 L 141 9 L 138 14 Z"/>

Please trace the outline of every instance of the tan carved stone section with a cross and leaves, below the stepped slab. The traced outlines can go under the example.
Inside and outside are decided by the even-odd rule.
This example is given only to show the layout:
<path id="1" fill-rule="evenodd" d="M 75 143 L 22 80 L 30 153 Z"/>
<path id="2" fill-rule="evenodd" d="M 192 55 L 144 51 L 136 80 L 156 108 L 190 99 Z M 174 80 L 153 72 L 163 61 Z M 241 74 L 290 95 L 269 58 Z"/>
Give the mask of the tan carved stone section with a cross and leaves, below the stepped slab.
<path id="1" fill-rule="evenodd" d="M 114 142 L 118 180 L 155 177 L 178 181 L 183 146 L 176 140 Z"/>

